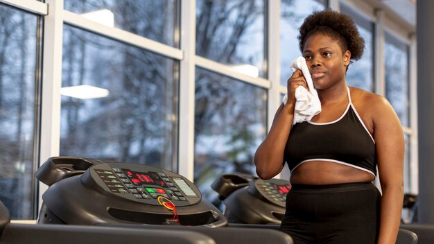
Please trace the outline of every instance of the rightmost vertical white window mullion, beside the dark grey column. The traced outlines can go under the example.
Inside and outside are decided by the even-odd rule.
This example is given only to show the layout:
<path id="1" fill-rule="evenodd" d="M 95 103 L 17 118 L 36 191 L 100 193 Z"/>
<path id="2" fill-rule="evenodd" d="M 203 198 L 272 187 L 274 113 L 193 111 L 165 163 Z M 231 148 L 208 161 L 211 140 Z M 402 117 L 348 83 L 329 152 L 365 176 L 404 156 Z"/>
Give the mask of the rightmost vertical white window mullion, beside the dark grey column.
<path id="1" fill-rule="evenodd" d="M 410 35 L 409 88 L 410 88 L 410 191 L 419 193 L 419 139 L 417 136 L 417 37 Z"/>

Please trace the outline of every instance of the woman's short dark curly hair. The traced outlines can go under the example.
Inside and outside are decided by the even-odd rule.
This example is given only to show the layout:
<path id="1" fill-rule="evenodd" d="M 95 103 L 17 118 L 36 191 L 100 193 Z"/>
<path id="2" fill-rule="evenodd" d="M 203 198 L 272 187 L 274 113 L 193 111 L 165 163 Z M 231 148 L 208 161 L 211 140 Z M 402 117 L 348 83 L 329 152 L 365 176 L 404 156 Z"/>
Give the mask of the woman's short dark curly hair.
<path id="1" fill-rule="evenodd" d="M 342 51 L 351 52 L 352 60 L 362 58 L 365 40 L 358 33 L 356 23 L 349 15 L 327 9 L 315 11 L 306 17 L 300 26 L 300 35 L 297 36 L 302 53 L 307 38 L 316 33 L 329 35 L 338 40 Z"/>

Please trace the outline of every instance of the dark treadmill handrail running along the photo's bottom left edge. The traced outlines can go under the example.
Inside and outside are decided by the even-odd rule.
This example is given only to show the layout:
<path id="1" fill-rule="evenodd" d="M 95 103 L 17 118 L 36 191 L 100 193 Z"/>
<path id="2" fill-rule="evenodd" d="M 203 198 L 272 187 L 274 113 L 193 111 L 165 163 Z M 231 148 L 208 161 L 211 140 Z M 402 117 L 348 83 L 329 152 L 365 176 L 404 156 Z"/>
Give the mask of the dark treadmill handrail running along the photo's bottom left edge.
<path id="1" fill-rule="evenodd" d="M 119 244 L 119 243 L 214 244 L 211 237 L 188 229 L 130 229 L 69 225 L 25 225 L 10 223 L 8 209 L 0 201 L 0 243 L 15 244 Z"/>

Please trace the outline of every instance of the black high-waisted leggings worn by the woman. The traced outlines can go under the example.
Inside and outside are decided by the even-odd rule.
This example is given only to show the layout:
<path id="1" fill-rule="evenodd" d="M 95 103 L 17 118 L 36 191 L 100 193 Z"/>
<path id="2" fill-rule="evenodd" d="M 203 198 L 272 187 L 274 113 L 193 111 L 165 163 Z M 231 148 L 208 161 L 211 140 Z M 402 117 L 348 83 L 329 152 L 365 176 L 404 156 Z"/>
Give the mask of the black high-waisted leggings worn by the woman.
<path id="1" fill-rule="evenodd" d="M 379 236 L 381 194 L 371 182 L 293 184 L 281 231 L 294 244 L 374 244 Z"/>

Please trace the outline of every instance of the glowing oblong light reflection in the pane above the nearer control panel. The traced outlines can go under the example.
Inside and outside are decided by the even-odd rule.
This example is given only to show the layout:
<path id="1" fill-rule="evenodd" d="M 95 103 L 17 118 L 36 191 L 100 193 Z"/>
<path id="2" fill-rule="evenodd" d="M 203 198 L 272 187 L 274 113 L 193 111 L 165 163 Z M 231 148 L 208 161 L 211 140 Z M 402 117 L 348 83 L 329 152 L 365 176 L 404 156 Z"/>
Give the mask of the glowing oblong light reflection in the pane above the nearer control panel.
<path id="1" fill-rule="evenodd" d="M 60 88 L 60 94 L 78 99 L 103 98 L 109 95 L 107 89 L 92 87 L 92 85 L 76 85 Z"/>

